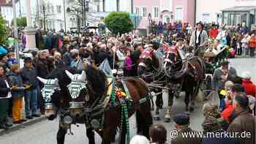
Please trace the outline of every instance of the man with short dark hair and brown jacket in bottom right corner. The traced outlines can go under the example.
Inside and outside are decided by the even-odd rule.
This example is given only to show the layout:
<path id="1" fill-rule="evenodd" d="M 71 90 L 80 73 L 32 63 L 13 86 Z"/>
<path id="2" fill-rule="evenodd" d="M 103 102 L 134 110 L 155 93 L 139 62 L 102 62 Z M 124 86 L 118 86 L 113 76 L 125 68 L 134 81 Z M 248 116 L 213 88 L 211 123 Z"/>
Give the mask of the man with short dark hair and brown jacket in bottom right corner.
<path id="1" fill-rule="evenodd" d="M 255 143 L 255 116 L 249 113 L 249 99 L 244 93 L 238 93 L 233 101 L 235 119 L 227 132 L 246 132 L 247 137 L 238 138 L 241 144 Z"/>

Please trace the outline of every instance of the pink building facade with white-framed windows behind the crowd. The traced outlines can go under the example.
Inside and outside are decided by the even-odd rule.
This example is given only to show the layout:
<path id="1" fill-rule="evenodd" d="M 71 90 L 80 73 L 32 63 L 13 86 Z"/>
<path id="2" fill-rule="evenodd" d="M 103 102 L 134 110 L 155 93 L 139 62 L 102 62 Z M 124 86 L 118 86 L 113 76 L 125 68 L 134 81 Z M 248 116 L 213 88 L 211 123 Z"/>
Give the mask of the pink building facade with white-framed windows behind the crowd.
<path id="1" fill-rule="evenodd" d="M 142 18 L 138 29 L 148 29 L 148 19 L 172 23 L 177 20 L 195 23 L 195 0 L 135 0 L 133 12 Z M 150 16 L 149 16 L 150 15 Z"/>

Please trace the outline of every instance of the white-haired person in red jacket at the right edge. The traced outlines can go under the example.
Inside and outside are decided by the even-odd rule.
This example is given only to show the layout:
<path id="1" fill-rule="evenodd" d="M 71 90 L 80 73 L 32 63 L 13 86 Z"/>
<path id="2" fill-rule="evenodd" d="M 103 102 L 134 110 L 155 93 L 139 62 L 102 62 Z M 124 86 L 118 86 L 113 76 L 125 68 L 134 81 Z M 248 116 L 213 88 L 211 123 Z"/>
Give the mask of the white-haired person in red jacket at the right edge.
<path id="1" fill-rule="evenodd" d="M 256 93 L 256 86 L 254 83 L 252 83 L 251 81 L 251 73 L 250 72 L 244 72 L 242 74 L 242 77 L 243 77 L 243 82 L 242 82 L 242 86 L 244 86 L 244 89 L 245 89 L 245 93 L 247 95 L 251 95 L 251 96 L 256 96 L 255 93 Z"/>

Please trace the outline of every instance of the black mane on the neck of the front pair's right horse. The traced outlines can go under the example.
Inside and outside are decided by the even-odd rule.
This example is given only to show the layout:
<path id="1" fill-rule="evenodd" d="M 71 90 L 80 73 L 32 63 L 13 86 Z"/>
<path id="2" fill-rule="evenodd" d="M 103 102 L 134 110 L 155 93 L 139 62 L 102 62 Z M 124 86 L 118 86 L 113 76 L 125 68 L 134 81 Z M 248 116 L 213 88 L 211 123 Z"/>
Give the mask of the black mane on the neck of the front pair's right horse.
<path id="1" fill-rule="evenodd" d="M 86 78 L 91 85 L 94 93 L 100 96 L 105 93 L 107 89 L 106 76 L 105 73 L 102 72 L 102 70 L 88 66 L 86 69 Z"/>

